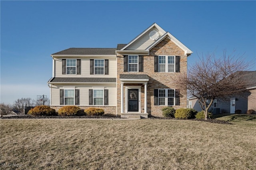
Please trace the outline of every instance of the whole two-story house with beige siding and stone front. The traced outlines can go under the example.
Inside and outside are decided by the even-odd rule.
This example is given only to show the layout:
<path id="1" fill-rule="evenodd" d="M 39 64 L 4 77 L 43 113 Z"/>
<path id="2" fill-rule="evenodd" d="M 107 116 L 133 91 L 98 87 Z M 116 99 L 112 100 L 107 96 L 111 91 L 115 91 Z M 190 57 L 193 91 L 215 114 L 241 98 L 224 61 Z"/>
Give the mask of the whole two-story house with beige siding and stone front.
<path id="1" fill-rule="evenodd" d="M 187 91 L 174 78 L 187 72 L 191 53 L 156 23 L 117 48 L 54 53 L 50 105 L 56 110 L 64 105 L 100 107 L 122 117 L 162 116 L 163 107 L 187 105 Z"/>

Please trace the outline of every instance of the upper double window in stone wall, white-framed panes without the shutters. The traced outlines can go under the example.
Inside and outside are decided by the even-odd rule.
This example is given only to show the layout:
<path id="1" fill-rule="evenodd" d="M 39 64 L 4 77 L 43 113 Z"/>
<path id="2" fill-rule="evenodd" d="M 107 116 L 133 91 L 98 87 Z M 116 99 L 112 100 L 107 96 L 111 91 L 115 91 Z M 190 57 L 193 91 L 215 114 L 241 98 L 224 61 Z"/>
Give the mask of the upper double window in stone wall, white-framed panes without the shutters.
<path id="1" fill-rule="evenodd" d="M 175 72 L 175 56 L 159 56 L 159 72 Z"/>

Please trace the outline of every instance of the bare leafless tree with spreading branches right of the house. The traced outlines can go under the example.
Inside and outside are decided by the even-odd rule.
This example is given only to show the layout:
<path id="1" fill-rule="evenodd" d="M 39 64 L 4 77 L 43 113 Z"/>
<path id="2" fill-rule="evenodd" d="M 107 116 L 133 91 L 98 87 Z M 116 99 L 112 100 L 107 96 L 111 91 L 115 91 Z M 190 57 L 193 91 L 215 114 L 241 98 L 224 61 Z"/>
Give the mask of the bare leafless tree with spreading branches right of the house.
<path id="1" fill-rule="evenodd" d="M 181 88 L 187 88 L 188 94 L 196 97 L 208 119 L 208 109 L 214 99 L 227 100 L 230 95 L 242 94 L 247 91 L 250 81 L 244 80 L 244 70 L 250 68 L 250 62 L 244 60 L 244 55 L 215 57 L 214 53 L 200 57 L 198 63 L 188 66 L 188 74 L 176 78 Z"/>

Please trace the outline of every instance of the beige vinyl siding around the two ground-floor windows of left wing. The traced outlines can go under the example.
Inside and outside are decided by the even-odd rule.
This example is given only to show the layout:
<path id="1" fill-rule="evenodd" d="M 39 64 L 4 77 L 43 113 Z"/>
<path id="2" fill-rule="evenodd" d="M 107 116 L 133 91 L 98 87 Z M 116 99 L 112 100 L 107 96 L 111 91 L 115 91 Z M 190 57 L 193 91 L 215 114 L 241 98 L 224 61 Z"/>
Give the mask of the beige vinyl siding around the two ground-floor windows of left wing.
<path id="1" fill-rule="evenodd" d="M 104 89 L 108 90 L 108 106 L 116 106 L 116 85 L 58 85 L 58 86 L 52 86 L 51 90 L 51 99 L 52 99 L 52 105 L 51 106 L 60 106 L 60 89 L 68 89 L 68 88 L 74 88 L 79 89 L 79 99 L 80 99 L 80 105 L 79 106 L 89 106 L 89 89 Z M 91 106 L 91 105 L 90 105 Z"/>

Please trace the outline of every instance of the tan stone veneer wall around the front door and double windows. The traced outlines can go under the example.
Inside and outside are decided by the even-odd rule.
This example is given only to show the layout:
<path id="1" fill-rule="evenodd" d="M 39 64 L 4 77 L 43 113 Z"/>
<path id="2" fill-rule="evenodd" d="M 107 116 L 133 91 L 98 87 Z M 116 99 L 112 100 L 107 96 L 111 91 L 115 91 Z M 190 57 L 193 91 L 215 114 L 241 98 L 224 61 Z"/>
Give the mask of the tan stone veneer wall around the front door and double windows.
<path id="1" fill-rule="evenodd" d="M 180 72 L 154 72 L 155 55 L 178 55 L 180 56 Z M 184 51 L 174 44 L 170 39 L 165 38 L 150 50 L 150 55 L 143 58 L 143 72 L 124 72 L 124 58 L 117 57 L 117 113 L 121 113 L 121 82 L 120 74 L 147 74 L 149 81 L 147 85 L 148 113 L 153 116 L 162 116 L 161 109 L 166 106 L 154 106 L 154 89 L 172 88 L 178 89 L 174 81 L 176 76 L 187 72 L 187 56 Z M 144 84 L 141 87 L 141 112 L 144 113 Z M 124 84 L 124 111 L 125 111 L 125 84 Z M 187 91 L 180 89 L 180 106 L 173 106 L 174 109 L 187 107 Z"/>

